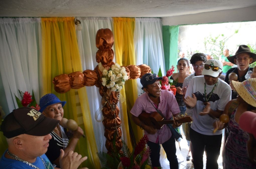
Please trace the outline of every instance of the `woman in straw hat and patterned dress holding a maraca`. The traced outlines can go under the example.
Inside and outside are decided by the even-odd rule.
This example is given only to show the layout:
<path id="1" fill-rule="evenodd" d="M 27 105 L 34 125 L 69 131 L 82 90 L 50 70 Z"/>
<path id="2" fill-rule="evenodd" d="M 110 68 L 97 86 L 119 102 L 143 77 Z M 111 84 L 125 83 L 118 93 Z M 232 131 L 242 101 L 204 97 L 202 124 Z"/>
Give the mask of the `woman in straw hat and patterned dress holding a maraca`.
<path id="1" fill-rule="evenodd" d="M 223 168 L 256 168 L 256 164 L 249 161 L 247 156 L 246 143 L 249 134 L 238 124 L 239 118 L 244 112 L 256 113 L 256 79 L 251 78 L 243 82 L 232 81 L 232 84 L 238 93 L 237 99 L 229 101 L 222 113 L 229 115 L 229 122 L 224 124 L 217 120 L 213 124 L 218 130 L 227 126 L 229 131 L 224 149 Z"/>

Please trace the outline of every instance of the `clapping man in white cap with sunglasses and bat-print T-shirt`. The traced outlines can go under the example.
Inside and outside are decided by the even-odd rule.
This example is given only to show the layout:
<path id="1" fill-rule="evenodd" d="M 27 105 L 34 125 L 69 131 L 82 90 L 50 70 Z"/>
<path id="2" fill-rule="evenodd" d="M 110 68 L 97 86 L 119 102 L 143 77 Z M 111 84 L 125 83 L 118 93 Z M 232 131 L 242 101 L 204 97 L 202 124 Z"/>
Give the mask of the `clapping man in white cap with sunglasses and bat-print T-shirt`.
<path id="1" fill-rule="evenodd" d="M 206 151 L 206 168 L 218 169 L 222 131 L 213 133 L 212 124 L 231 100 L 230 86 L 218 78 L 222 68 L 221 61 L 209 59 L 202 71 L 204 76 L 191 79 L 186 90 L 184 102 L 187 108 L 193 110 L 189 137 L 195 168 L 203 168 L 203 154 Z"/>

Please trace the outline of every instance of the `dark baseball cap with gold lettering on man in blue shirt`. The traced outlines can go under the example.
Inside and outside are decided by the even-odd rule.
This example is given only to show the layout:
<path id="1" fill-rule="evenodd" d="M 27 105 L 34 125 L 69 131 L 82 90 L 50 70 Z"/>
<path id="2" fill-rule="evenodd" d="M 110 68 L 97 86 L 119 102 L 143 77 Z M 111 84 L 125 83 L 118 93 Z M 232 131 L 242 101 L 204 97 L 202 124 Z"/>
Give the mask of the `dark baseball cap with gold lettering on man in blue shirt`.
<path id="1" fill-rule="evenodd" d="M 21 134 L 45 136 L 59 123 L 59 120 L 45 117 L 31 107 L 21 107 L 8 114 L 1 125 L 1 130 L 6 138 Z"/>

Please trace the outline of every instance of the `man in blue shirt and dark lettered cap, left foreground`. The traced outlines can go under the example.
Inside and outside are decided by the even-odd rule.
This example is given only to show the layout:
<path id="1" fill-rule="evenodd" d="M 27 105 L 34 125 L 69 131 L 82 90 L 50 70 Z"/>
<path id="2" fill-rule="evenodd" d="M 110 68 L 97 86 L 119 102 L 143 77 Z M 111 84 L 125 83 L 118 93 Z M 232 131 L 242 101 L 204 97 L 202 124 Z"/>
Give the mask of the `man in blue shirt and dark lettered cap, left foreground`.
<path id="1" fill-rule="evenodd" d="M 0 159 L 0 168 L 54 168 L 45 155 L 52 136 L 49 134 L 59 120 L 45 117 L 30 107 L 8 114 L 1 125 L 8 149 Z M 77 168 L 87 157 L 73 151 L 60 153 L 61 168 Z"/>

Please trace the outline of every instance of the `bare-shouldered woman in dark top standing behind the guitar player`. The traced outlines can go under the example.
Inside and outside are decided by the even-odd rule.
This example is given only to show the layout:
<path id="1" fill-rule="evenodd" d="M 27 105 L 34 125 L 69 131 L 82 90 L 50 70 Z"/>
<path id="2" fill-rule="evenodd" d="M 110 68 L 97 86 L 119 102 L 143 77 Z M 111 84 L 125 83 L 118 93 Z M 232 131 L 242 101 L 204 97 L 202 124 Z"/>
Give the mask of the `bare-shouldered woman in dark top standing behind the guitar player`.
<path id="1" fill-rule="evenodd" d="M 185 105 L 185 103 L 183 101 L 182 86 L 183 86 L 184 79 L 190 75 L 189 73 L 187 73 L 188 69 L 189 69 L 188 59 L 187 58 L 180 58 L 178 60 L 178 64 L 177 64 L 178 73 L 174 73 L 170 77 L 170 79 L 175 81 L 174 84 L 175 84 L 175 87 L 177 87 L 175 98 L 176 98 L 176 100 L 178 102 L 181 115 L 184 115 L 185 111 L 186 111 L 186 105 Z M 184 126 L 184 124 L 182 124 L 182 126 Z M 183 133 L 185 133 L 184 127 L 182 127 L 183 128 Z M 180 127 L 178 127 L 178 129 L 180 131 Z M 180 141 L 181 141 L 181 139 L 179 138 L 178 139 L 178 143 Z M 179 146 L 179 149 L 180 149 L 180 146 Z"/>

